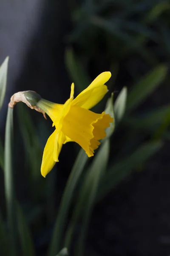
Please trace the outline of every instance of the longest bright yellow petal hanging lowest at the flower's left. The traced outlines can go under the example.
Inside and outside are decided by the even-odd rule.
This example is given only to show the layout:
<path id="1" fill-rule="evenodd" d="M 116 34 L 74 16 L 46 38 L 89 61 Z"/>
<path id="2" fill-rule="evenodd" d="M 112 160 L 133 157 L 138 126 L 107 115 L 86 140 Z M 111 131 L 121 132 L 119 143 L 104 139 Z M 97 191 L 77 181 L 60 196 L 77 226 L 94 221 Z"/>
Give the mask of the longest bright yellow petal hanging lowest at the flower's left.
<path id="1" fill-rule="evenodd" d="M 51 169 L 54 167 L 54 164 L 56 163 L 53 159 L 55 137 L 56 137 L 56 130 L 48 138 L 44 148 L 44 152 L 42 156 L 42 164 L 41 164 L 41 174 L 43 177 L 45 177 L 48 174 L 48 172 L 51 171 Z"/>

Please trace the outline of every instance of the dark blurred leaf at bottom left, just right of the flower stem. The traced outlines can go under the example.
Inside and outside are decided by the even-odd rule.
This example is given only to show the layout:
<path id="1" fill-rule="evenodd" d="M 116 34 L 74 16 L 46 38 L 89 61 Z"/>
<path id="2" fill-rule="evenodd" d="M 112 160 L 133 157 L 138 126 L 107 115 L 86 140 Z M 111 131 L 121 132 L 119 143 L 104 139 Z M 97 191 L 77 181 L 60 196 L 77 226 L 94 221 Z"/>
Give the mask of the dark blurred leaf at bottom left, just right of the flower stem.
<path id="1" fill-rule="evenodd" d="M 23 215 L 23 210 L 20 204 L 16 202 L 17 208 L 17 228 L 20 235 L 20 243 L 22 247 L 22 252 L 24 256 L 35 256 L 35 250 L 33 246 L 33 241 L 31 238 L 31 233 L 28 228 L 25 216 Z"/>

